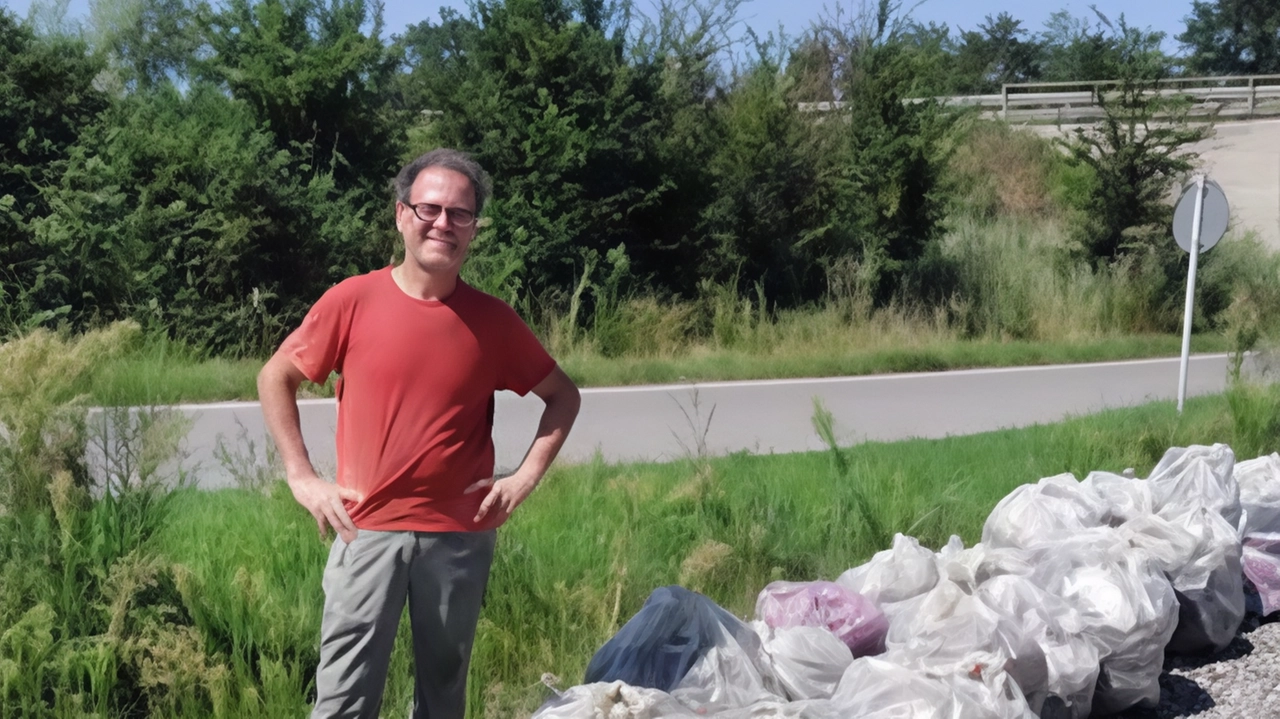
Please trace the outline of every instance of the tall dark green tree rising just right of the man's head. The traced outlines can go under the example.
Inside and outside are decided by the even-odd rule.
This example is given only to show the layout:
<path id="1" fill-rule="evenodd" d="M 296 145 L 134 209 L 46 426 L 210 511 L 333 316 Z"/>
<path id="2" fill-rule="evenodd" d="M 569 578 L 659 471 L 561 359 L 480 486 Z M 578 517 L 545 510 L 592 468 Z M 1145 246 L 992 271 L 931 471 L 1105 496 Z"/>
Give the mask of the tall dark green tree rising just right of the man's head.
<path id="1" fill-rule="evenodd" d="M 494 177 L 476 258 L 504 255 L 499 265 L 518 267 L 535 296 L 572 287 L 584 252 L 643 242 L 628 217 L 657 201 L 643 164 L 653 74 L 623 61 L 621 20 L 600 0 L 481 1 L 415 46 L 454 73 L 453 87 L 422 78 L 406 91 L 438 113 L 425 137 L 472 152 Z"/>

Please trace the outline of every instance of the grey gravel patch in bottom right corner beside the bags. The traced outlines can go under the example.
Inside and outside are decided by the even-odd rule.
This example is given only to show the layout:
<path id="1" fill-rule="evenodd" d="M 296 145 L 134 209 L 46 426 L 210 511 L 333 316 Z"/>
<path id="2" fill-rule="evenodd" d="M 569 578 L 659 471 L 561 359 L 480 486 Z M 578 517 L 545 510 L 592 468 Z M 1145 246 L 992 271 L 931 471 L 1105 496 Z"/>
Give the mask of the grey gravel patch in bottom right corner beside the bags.
<path id="1" fill-rule="evenodd" d="M 1280 718 L 1280 613 L 1261 617 L 1256 594 L 1235 638 L 1210 656 L 1170 656 L 1160 676 L 1160 706 L 1132 709 L 1121 719 Z"/>

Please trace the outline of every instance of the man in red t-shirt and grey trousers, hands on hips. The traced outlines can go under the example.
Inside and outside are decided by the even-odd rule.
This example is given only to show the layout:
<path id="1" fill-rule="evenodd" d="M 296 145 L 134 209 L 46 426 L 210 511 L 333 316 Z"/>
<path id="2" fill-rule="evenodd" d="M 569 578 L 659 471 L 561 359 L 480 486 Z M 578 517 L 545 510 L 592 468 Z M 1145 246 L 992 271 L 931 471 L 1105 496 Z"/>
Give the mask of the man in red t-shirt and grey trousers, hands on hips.
<path id="1" fill-rule="evenodd" d="M 396 178 L 404 261 L 320 298 L 259 375 L 289 489 L 338 537 L 324 572 L 319 716 L 378 716 L 401 610 L 413 636 L 416 719 L 462 719 L 495 530 L 534 490 L 577 416 L 579 391 L 502 301 L 458 279 L 488 178 L 428 152 Z M 311 466 L 303 379 L 340 375 L 338 476 Z M 516 473 L 493 478 L 493 394 L 545 402 Z"/>

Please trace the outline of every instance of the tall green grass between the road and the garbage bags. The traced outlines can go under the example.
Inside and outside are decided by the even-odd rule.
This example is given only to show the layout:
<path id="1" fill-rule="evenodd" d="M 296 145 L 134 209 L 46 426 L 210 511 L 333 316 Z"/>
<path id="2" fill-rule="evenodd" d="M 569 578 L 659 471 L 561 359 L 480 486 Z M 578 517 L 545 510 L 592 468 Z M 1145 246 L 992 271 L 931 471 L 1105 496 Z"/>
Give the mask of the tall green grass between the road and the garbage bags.
<path id="1" fill-rule="evenodd" d="M 548 693 L 544 673 L 580 682 L 658 586 L 749 617 L 769 581 L 835 578 L 893 532 L 972 544 L 1018 485 L 1126 467 L 1142 476 L 1169 446 L 1235 441 L 1236 425 L 1228 398 L 1211 397 L 1181 416 L 1156 403 L 838 455 L 556 467 L 502 530 L 470 716 L 527 716 Z M 1249 452 L 1277 440 L 1247 439 Z M 47 513 L 0 517 L 0 715 L 306 714 L 326 542 L 283 484 L 97 502 L 64 490 Z M 404 647 L 387 715 L 412 693 Z"/>

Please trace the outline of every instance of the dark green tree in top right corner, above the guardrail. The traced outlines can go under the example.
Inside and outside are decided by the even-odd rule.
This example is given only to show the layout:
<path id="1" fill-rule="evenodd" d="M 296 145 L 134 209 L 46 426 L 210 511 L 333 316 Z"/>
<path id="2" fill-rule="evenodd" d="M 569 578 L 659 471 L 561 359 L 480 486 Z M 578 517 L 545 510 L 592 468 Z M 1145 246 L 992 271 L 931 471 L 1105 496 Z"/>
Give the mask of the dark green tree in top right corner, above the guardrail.
<path id="1" fill-rule="evenodd" d="M 1280 73 L 1280 4 L 1196 0 L 1178 41 L 1196 74 Z"/>

